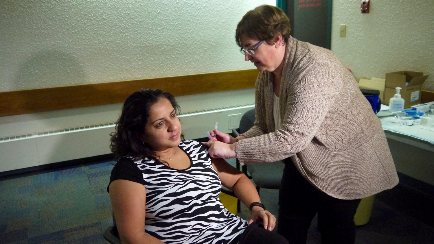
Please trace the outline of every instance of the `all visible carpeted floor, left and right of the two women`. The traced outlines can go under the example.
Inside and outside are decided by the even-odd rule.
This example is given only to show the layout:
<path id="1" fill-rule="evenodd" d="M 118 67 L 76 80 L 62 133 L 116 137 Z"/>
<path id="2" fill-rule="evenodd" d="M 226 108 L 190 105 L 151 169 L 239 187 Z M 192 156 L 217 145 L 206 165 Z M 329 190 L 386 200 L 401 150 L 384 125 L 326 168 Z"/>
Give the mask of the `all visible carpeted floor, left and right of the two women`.
<path id="1" fill-rule="evenodd" d="M 0 244 L 106 244 L 113 164 L 102 160 L 0 180 Z M 278 190 L 261 189 L 260 195 L 277 215 Z M 434 244 L 433 206 L 432 198 L 399 185 L 381 192 L 369 223 L 356 228 L 356 244 Z M 248 219 L 250 211 L 241 205 L 238 215 Z M 314 218 L 307 243 L 320 242 Z"/>

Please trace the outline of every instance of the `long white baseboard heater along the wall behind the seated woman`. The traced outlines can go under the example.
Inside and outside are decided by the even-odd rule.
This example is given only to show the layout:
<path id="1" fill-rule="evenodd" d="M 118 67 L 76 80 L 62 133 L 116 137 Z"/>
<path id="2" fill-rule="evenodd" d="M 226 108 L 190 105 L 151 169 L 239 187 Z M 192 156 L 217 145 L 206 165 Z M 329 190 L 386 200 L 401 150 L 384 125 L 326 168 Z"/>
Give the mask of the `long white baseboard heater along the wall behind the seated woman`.
<path id="1" fill-rule="evenodd" d="M 254 104 L 220 107 L 180 114 L 185 139 L 207 137 L 216 122 L 230 133 Z M 0 138 L 0 172 L 105 155 L 115 122 Z"/>

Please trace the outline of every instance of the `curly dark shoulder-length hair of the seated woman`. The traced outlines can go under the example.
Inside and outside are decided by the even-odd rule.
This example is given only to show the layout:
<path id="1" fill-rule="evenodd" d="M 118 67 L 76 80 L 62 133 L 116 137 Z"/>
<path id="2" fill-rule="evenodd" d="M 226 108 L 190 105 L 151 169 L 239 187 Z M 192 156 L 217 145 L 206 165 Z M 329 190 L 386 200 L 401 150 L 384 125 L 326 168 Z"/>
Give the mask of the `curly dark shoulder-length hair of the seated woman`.
<path id="1" fill-rule="evenodd" d="M 116 130 L 110 133 L 110 149 L 118 159 L 131 156 L 133 159 L 148 158 L 157 160 L 154 151 L 148 143 L 143 143 L 141 136 L 145 133 L 145 124 L 148 122 L 149 109 L 161 98 L 167 98 L 177 114 L 180 107 L 174 95 L 160 89 L 141 89 L 131 94 L 125 100 L 122 114 L 116 124 Z M 183 135 L 181 134 L 183 139 Z"/>

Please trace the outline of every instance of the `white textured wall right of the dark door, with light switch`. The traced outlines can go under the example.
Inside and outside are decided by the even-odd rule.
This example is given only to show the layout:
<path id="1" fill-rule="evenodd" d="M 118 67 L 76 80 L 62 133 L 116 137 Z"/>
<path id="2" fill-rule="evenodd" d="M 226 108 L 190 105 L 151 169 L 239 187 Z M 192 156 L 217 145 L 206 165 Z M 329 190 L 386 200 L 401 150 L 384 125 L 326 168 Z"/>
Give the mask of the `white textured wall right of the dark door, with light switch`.
<path id="1" fill-rule="evenodd" d="M 423 88 L 434 91 L 433 13 L 433 0 L 371 0 L 364 14 L 360 0 L 333 0 L 332 51 L 356 77 L 420 71 L 430 75 Z"/>

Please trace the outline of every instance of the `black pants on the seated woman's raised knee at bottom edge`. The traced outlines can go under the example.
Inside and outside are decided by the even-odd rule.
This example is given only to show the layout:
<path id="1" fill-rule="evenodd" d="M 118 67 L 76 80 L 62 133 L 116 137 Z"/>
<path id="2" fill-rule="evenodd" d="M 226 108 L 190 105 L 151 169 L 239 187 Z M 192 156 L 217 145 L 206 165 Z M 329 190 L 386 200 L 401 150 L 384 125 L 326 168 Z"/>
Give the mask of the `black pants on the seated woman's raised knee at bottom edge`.
<path id="1" fill-rule="evenodd" d="M 288 244 L 288 241 L 274 231 L 264 229 L 262 224 L 253 222 L 250 224 L 243 234 L 233 240 L 231 244 Z"/>

